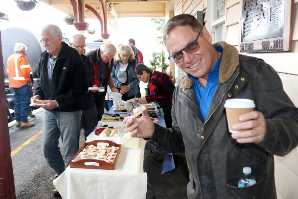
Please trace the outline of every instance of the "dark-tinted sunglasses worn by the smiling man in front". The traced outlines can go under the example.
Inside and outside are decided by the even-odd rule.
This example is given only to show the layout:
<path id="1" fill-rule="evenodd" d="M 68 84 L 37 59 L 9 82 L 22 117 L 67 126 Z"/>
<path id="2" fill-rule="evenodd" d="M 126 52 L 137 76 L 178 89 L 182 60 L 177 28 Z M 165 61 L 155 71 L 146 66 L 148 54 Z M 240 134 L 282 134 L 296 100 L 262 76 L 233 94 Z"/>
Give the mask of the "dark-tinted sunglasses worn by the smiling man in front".
<path id="1" fill-rule="evenodd" d="M 189 44 L 187 44 L 182 50 L 180 50 L 179 52 L 170 55 L 169 54 L 169 58 L 171 61 L 173 61 L 174 63 L 178 64 L 181 61 L 183 61 L 184 57 L 183 57 L 183 53 L 182 51 L 184 50 L 187 53 L 193 54 L 195 52 L 197 52 L 200 49 L 200 45 L 198 44 L 198 38 L 200 36 L 201 32 L 199 33 L 198 37 L 193 40 L 192 42 L 190 42 Z"/>

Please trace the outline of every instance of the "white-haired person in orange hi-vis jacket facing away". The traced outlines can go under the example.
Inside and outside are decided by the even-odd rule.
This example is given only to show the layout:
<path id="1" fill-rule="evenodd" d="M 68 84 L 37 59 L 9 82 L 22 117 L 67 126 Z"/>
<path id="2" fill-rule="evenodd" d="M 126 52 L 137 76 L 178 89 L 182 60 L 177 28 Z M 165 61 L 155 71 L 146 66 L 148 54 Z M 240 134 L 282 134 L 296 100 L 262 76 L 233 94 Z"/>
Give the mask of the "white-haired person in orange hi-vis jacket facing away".
<path id="1" fill-rule="evenodd" d="M 16 43 L 15 52 L 7 60 L 9 87 L 13 88 L 16 127 L 32 127 L 28 121 L 29 93 L 31 88 L 31 67 L 25 57 L 27 46 Z"/>

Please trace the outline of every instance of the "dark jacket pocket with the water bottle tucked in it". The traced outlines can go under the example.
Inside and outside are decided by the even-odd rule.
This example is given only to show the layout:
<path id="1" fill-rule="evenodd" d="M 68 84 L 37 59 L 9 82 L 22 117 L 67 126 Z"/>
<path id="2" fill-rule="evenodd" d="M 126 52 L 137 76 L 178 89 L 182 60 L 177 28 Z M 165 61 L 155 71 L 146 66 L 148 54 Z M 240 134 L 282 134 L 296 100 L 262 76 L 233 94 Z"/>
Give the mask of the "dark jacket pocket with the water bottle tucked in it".
<path id="1" fill-rule="evenodd" d="M 252 176 L 257 183 L 252 186 L 238 187 L 245 166 L 252 168 Z M 255 144 L 236 144 L 226 163 L 226 186 L 230 199 L 276 198 L 274 183 L 273 155 Z"/>

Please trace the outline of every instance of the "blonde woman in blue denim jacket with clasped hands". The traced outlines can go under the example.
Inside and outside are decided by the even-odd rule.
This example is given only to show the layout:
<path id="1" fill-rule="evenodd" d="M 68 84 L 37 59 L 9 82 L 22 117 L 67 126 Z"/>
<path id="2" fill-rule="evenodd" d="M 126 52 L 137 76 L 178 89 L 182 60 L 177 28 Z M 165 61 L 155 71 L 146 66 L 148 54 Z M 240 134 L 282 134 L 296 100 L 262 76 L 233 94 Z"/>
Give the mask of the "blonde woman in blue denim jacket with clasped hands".
<path id="1" fill-rule="evenodd" d="M 138 92 L 139 80 L 132 75 L 137 64 L 139 62 L 134 58 L 131 47 L 121 45 L 117 51 L 116 63 L 111 72 L 111 77 L 124 101 L 134 98 Z"/>

